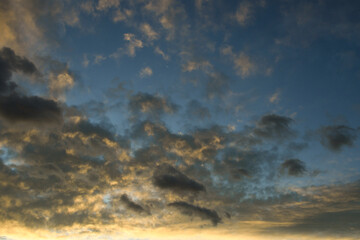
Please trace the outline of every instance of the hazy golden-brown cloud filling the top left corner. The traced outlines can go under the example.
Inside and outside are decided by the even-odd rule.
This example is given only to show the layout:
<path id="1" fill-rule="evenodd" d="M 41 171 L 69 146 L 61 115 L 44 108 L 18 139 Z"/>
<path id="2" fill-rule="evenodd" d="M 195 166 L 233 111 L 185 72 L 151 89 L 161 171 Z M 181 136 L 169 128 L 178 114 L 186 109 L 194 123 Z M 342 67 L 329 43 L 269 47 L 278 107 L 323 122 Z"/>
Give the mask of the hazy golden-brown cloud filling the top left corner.
<path id="1" fill-rule="evenodd" d="M 66 27 L 80 26 L 77 6 L 61 0 L 3 0 L 0 16 L 0 46 L 29 56 L 49 52 Z"/>

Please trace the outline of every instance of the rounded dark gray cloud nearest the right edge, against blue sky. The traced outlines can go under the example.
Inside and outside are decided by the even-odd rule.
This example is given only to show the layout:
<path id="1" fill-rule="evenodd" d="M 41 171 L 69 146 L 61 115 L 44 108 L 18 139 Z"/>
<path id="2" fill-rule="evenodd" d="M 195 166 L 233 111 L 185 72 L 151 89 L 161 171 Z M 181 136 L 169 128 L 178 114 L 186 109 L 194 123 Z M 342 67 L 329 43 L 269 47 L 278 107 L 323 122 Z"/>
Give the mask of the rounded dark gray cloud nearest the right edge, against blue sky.
<path id="1" fill-rule="evenodd" d="M 332 151 L 340 151 L 344 146 L 351 147 L 357 139 L 356 130 L 345 126 L 326 126 L 320 129 L 321 144 Z"/>

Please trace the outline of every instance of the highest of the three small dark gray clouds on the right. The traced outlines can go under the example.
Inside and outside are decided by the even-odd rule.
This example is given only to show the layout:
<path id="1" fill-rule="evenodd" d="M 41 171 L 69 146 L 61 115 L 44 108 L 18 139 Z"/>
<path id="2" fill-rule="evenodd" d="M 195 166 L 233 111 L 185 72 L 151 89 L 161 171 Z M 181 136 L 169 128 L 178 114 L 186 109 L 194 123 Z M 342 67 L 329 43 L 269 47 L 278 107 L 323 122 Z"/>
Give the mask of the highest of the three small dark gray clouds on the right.
<path id="1" fill-rule="evenodd" d="M 257 122 L 254 133 L 262 138 L 283 140 L 295 135 L 290 128 L 293 120 L 289 117 L 268 114 L 261 117 Z"/>

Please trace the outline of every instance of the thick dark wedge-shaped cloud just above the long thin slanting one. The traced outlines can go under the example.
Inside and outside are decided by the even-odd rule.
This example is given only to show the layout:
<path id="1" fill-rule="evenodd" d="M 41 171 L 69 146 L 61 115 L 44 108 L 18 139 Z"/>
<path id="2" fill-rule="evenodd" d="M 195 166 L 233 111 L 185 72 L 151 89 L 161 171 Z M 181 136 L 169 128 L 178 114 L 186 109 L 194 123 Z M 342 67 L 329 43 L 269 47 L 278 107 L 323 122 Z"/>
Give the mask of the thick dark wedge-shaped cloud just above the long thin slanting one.
<path id="1" fill-rule="evenodd" d="M 161 189 L 167 189 L 181 193 L 197 193 L 206 191 L 204 185 L 190 179 L 169 165 L 163 165 L 155 171 L 153 176 L 153 184 Z"/>

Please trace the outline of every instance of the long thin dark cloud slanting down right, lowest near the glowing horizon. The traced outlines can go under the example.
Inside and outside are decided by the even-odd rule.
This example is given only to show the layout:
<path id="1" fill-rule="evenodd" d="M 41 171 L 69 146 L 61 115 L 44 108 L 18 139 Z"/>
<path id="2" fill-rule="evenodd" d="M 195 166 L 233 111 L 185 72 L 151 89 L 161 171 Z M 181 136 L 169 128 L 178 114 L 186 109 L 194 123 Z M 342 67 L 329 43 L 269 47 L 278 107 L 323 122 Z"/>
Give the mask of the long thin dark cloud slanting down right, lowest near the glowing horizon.
<path id="1" fill-rule="evenodd" d="M 173 202 L 168 206 L 177 208 L 182 214 L 188 216 L 197 216 L 204 220 L 210 220 L 214 226 L 221 222 L 221 218 L 216 211 L 207 208 L 195 206 L 187 202 Z"/>

